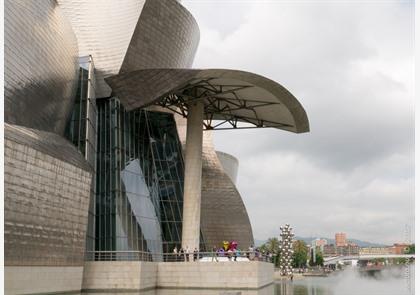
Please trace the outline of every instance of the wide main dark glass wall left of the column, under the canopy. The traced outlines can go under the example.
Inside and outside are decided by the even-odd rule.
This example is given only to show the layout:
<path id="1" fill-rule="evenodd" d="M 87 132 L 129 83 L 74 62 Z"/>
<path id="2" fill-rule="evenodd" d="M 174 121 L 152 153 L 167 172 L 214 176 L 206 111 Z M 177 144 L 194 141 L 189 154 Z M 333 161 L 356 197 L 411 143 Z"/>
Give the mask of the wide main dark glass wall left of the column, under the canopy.
<path id="1" fill-rule="evenodd" d="M 126 112 L 117 98 L 97 107 L 96 251 L 180 248 L 184 167 L 173 115 Z"/>

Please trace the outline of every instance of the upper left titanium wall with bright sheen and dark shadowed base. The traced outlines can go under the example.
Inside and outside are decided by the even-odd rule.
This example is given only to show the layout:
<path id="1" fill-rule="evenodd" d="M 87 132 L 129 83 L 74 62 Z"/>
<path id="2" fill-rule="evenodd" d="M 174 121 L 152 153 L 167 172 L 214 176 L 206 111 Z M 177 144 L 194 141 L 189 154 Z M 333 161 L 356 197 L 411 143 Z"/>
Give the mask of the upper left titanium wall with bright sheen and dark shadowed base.
<path id="1" fill-rule="evenodd" d="M 63 134 L 77 88 L 78 48 L 56 1 L 4 3 L 5 122 Z"/>

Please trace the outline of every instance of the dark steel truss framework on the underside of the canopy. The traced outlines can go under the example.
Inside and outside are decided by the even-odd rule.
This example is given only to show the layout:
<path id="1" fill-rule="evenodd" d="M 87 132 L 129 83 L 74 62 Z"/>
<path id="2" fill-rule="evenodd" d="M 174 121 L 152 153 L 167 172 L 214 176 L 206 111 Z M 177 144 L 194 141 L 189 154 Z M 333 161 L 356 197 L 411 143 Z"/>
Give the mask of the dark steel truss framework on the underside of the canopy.
<path id="1" fill-rule="evenodd" d="M 280 103 L 241 98 L 238 91 L 254 86 L 240 84 L 221 85 L 214 83 L 216 79 L 207 78 L 190 82 L 167 95 L 156 104 L 186 118 L 188 105 L 196 101 L 202 101 L 204 103 L 204 130 L 293 127 L 289 124 L 259 118 L 256 111 L 257 108 Z M 223 95 L 230 95 L 230 97 Z M 249 110 L 254 116 L 237 114 L 236 112 L 240 110 Z M 249 123 L 253 126 L 238 126 L 238 122 Z"/>

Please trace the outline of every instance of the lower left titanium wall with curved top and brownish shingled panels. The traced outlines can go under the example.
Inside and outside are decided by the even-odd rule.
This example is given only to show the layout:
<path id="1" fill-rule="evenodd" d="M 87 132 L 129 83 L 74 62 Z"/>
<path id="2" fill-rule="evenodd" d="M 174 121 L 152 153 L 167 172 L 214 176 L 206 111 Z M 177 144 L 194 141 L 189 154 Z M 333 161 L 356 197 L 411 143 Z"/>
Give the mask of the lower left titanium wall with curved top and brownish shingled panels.
<path id="1" fill-rule="evenodd" d="M 61 136 L 5 124 L 6 266 L 83 266 L 91 172 Z"/>

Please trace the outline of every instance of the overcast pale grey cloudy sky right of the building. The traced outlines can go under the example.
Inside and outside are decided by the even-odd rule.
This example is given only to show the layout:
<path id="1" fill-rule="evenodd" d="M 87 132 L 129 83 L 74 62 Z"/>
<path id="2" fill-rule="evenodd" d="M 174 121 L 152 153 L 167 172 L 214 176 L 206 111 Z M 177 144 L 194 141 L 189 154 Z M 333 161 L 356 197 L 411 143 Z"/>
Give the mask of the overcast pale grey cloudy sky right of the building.
<path id="1" fill-rule="evenodd" d="M 197 1 L 195 68 L 275 80 L 311 131 L 216 131 L 254 237 L 414 237 L 414 1 Z M 410 233 L 411 232 L 411 233 Z"/>

